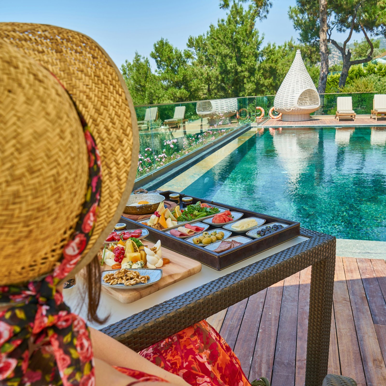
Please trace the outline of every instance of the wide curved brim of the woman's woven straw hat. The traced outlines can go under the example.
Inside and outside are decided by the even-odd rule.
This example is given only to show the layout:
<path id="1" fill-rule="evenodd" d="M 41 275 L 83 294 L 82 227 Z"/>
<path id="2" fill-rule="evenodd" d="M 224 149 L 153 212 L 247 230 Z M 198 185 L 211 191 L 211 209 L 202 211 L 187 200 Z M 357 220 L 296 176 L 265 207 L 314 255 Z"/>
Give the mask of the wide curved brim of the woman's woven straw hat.
<path id="1" fill-rule="evenodd" d="M 36 60 L 60 80 L 85 117 L 100 152 L 100 210 L 86 251 L 71 273 L 74 274 L 97 254 L 118 222 L 132 191 L 139 153 L 134 105 L 113 61 L 93 39 L 80 32 L 52 25 L 0 23 L 0 39 Z M 17 220 L 8 218 L 8 227 Z M 47 218 L 48 223 L 54 221 L 54 218 Z M 41 224 L 41 227 L 44 225 Z M 36 224 L 24 226 L 36 227 Z M 34 240 L 28 242 L 33 243 Z M 58 260 L 61 254 L 56 255 Z M 2 258 L 0 256 L 0 262 Z M 43 262 L 31 262 L 30 274 L 23 281 L 50 273 L 54 264 L 52 256 Z M 8 278 L 0 279 L 0 285 L 20 282 L 10 274 Z"/>

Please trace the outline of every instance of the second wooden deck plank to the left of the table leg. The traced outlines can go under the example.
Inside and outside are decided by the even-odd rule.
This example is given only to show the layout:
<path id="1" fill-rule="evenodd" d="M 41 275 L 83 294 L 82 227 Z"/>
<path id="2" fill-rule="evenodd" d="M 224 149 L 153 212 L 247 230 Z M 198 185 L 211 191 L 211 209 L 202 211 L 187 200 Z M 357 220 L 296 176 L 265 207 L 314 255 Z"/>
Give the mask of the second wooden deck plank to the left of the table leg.
<path id="1" fill-rule="evenodd" d="M 300 273 L 284 279 L 283 297 L 273 362 L 272 384 L 295 385 L 296 334 Z"/>

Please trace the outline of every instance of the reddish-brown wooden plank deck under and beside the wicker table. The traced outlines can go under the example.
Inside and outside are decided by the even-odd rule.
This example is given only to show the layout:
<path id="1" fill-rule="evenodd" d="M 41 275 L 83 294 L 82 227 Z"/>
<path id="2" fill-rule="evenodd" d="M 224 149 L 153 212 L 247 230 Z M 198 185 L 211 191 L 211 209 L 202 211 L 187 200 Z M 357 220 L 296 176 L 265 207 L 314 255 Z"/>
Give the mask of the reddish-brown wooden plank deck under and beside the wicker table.
<path id="1" fill-rule="evenodd" d="M 208 318 L 249 381 L 304 385 L 310 275 L 308 267 Z M 328 372 L 386 385 L 385 298 L 384 260 L 337 257 Z"/>

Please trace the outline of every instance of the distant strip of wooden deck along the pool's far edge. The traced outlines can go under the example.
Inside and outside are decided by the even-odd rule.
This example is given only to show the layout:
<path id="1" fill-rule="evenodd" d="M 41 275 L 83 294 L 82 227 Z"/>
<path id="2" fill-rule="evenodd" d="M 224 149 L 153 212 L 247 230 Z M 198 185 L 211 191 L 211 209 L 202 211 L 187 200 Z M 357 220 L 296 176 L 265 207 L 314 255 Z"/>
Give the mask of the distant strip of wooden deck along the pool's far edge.
<path id="1" fill-rule="evenodd" d="M 386 118 L 378 119 L 377 121 L 375 119 L 371 119 L 370 117 L 361 117 L 357 115 L 356 122 L 354 122 L 353 119 L 341 119 L 339 122 L 337 119 L 334 119 L 334 117 L 328 116 L 323 118 L 312 118 L 309 121 L 295 121 L 295 122 L 284 122 L 281 119 L 268 119 L 265 122 L 262 122 L 260 127 L 312 127 L 312 126 L 350 126 L 350 127 L 357 127 L 357 126 L 386 126 Z"/>

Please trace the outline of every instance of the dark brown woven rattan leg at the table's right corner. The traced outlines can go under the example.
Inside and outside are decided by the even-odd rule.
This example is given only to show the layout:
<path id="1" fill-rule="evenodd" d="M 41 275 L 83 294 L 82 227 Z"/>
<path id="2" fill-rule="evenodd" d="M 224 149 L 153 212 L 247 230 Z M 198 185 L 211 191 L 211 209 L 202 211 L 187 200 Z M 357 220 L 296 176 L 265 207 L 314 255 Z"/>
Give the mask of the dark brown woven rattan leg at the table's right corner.
<path id="1" fill-rule="evenodd" d="M 321 386 L 327 375 L 336 240 L 325 246 L 325 259 L 312 266 L 305 386 Z"/>

